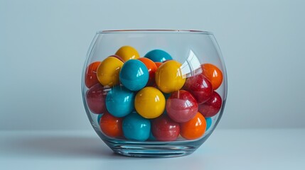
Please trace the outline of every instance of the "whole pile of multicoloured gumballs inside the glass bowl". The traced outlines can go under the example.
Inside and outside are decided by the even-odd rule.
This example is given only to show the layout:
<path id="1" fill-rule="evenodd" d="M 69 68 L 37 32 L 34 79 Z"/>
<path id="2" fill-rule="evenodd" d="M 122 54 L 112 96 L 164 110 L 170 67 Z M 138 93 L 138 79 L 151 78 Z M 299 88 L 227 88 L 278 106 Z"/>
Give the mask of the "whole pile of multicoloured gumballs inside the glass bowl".
<path id="1" fill-rule="evenodd" d="M 205 63 L 200 65 L 202 72 L 186 77 L 181 65 L 164 50 L 140 57 L 131 46 L 89 64 L 85 99 L 91 113 L 99 114 L 102 133 L 161 142 L 202 137 L 223 103 L 215 91 L 223 73 Z"/>

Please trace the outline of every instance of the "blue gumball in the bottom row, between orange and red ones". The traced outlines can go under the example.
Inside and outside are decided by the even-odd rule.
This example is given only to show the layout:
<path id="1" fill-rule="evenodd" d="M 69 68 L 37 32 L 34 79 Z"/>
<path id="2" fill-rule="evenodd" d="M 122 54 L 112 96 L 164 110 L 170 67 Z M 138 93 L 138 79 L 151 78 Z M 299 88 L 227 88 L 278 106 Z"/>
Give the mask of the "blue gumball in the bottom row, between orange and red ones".
<path id="1" fill-rule="evenodd" d="M 128 140 L 147 140 L 151 132 L 151 122 L 133 112 L 124 118 L 123 132 Z"/>

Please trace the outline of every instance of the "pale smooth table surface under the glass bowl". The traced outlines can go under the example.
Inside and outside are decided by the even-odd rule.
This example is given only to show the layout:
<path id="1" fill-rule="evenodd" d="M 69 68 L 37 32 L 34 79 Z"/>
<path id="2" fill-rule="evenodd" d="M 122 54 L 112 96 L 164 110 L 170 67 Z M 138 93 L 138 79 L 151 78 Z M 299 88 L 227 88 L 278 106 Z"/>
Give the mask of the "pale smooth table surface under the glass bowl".
<path id="1" fill-rule="evenodd" d="M 0 169 L 305 169 L 305 129 L 218 130 L 193 154 L 113 154 L 91 131 L 0 131 Z"/>

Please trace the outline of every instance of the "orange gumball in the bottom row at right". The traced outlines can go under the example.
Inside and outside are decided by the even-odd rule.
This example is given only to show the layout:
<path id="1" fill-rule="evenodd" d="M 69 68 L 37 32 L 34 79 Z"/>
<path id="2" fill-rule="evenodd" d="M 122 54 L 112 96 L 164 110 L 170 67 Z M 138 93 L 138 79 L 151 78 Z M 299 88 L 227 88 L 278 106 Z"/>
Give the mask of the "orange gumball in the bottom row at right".
<path id="1" fill-rule="evenodd" d="M 201 113 L 196 113 L 195 117 L 186 123 L 180 124 L 181 136 L 186 140 L 196 140 L 203 136 L 206 128 L 205 118 Z"/>

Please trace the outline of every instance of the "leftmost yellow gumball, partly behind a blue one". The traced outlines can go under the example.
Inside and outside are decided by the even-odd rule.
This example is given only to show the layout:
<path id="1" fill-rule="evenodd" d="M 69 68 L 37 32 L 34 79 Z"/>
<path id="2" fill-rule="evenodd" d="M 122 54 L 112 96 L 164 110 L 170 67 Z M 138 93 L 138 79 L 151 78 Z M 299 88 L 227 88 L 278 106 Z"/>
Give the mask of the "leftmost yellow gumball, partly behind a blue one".
<path id="1" fill-rule="evenodd" d="M 119 84 L 119 70 L 124 63 L 116 57 L 107 57 L 97 67 L 97 79 L 103 86 Z"/>

